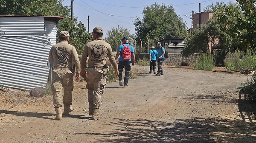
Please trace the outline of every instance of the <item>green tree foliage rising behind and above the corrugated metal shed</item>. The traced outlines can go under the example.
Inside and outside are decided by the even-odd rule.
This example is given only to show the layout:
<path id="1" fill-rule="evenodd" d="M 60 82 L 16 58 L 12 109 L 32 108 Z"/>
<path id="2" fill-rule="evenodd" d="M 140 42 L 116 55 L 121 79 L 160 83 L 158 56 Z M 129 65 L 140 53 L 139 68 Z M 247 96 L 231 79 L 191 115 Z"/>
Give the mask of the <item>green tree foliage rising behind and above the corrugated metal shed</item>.
<path id="1" fill-rule="evenodd" d="M 82 53 L 84 44 L 92 40 L 82 22 L 71 20 L 70 8 L 64 0 L 0 0 L 0 15 L 63 16 L 58 22 L 58 31 L 69 31 L 71 45 Z"/>

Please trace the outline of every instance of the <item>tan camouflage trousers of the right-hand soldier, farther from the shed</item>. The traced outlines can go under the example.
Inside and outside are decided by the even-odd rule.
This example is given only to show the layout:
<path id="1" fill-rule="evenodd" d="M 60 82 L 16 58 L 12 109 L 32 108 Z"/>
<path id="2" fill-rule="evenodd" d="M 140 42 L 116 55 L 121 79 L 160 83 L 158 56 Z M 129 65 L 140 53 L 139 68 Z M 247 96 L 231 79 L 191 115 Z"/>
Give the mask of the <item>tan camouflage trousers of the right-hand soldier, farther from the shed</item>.
<path id="1" fill-rule="evenodd" d="M 93 109 L 99 109 L 102 94 L 105 90 L 107 76 L 103 75 L 101 69 L 87 69 L 88 102 L 93 103 Z"/>

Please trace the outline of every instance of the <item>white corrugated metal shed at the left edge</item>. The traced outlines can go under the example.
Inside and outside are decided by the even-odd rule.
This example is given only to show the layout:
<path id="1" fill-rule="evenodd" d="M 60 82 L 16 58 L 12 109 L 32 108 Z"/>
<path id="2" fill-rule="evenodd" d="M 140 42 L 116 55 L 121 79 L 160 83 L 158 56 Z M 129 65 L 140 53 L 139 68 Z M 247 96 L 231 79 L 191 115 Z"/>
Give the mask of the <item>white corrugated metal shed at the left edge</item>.
<path id="1" fill-rule="evenodd" d="M 0 86 L 32 90 L 45 87 L 49 49 L 64 17 L 0 16 Z"/>

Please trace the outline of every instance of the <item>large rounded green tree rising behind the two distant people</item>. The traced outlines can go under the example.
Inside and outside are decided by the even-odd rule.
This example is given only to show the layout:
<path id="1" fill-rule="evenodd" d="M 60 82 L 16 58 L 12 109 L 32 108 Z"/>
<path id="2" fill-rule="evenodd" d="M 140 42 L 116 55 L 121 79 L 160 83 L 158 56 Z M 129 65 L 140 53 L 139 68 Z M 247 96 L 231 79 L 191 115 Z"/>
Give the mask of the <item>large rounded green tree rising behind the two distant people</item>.
<path id="1" fill-rule="evenodd" d="M 161 39 L 180 38 L 187 36 L 186 23 L 175 13 L 174 7 L 154 3 L 143 10 L 143 19 L 137 17 L 134 21 L 136 41 L 143 42 L 143 52 L 148 51 L 149 45 Z M 148 40 L 150 41 L 148 45 Z"/>

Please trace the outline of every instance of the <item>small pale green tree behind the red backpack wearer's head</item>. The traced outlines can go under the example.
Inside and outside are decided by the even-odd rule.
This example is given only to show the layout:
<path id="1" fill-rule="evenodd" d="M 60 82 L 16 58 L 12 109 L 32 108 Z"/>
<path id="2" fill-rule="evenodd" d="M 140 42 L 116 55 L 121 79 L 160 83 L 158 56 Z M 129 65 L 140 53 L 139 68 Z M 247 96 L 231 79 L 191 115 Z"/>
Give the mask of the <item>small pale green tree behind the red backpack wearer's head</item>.
<path id="1" fill-rule="evenodd" d="M 111 30 L 108 30 L 105 41 L 111 45 L 113 51 L 116 51 L 119 45 L 122 44 L 121 39 L 123 37 L 128 37 L 130 44 L 133 45 L 134 35 L 131 35 L 130 30 L 127 28 L 123 28 L 119 25 L 117 28 L 111 28 Z"/>

